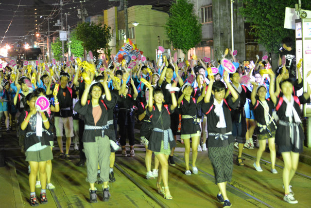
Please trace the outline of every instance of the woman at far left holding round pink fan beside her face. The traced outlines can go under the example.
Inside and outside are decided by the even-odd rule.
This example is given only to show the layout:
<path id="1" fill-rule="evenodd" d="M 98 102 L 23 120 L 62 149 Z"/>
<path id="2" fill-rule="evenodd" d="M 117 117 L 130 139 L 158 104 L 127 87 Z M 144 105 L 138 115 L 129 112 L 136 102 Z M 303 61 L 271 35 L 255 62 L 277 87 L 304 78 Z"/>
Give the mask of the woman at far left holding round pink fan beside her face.
<path id="1" fill-rule="evenodd" d="M 36 99 L 37 95 L 35 93 L 30 93 L 25 97 L 25 108 L 18 118 L 20 133 L 26 135 L 24 145 L 26 161 L 29 162 L 32 170 L 29 174 L 31 206 L 38 206 L 38 200 L 35 195 L 35 182 L 38 170 L 41 181 L 40 202 L 41 204 L 48 202 L 46 197 L 46 163 L 48 160 L 53 159 L 52 150 L 49 147 L 53 123 L 47 112 L 37 112 L 35 108 Z"/>

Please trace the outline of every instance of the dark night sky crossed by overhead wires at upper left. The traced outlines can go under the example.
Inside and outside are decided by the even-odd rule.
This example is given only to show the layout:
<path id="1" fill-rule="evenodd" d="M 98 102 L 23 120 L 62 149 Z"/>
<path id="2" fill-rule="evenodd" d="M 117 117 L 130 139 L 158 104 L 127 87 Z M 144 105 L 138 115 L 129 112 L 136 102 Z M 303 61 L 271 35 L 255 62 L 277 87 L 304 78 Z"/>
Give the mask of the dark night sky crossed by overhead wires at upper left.
<path id="1" fill-rule="evenodd" d="M 168 3 L 170 1 L 129 0 L 128 6 Z M 32 34 L 37 31 L 35 24 L 39 25 L 40 33 L 47 34 L 45 33 L 48 28 L 46 18 L 50 18 L 50 31 L 59 30 L 59 26 L 53 26 L 56 20 L 60 19 L 59 2 L 60 0 L 0 0 L 0 45 L 17 41 L 24 42 L 27 41 L 27 38 L 33 38 Z M 63 3 L 63 14 L 69 13 L 68 24 L 74 28 L 81 21 L 77 17 L 77 8 L 80 8 L 81 5 L 80 0 L 63 0 Z M 111 0 L 85 0 L 84 2 L 83 0 L 83 5 L 88 16 L 94 16 L 103 15 L 104 9 L 112 5 L 119 5 L 119 2 Z M 65 23 L 65 15 L 63 17 Z"/>

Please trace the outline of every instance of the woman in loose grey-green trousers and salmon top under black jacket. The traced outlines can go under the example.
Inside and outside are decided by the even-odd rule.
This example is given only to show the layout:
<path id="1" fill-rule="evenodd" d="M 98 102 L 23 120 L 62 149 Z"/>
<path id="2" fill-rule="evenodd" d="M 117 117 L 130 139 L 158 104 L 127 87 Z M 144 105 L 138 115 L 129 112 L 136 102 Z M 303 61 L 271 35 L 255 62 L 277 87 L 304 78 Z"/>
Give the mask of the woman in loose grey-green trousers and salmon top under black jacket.
<path id="1" fill-rule="evenodd" d="M 86 76 L 87 77 L 87 76 Z M 87 77 L 86 80 L 90 80 Z M 97 202 L 97 181 L 98 165 L 100 166 L 100 179 L 103 184 L 103 200 L 108 201 L 110 198 L 108 181 L 109 181 L 109 156 L 110 141 L 105 134 L 107 125 L 107 110 L 113 108 L 111 94 L 107 84 L 107 76 L 104 78 L 104 87 L 101 83 L 93 81 L 91 84 L 85 82 L 85 91 L 75 107 L 74 111 L 84 116 L 85 130 L 83 133 L 83 147 L 86 154 L 87 182 L 89 183 L 90 203 Z M 102 94 L 105 98 L 102 100 Z M 87 100 L 88 95 L 91 99 Z"/>

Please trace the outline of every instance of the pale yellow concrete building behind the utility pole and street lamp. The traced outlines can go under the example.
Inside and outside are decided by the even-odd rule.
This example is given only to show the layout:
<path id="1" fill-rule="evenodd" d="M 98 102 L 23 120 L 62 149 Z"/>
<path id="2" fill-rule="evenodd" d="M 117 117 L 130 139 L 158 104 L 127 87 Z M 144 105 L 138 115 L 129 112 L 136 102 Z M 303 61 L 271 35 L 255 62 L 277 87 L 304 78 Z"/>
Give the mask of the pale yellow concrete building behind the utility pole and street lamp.
<path id="1" fill-rule="evenodd" d="M 155 50 L 159 45 L 171 48 L 166 36 L 165 22 L 169 15 L 166 12 L 153 9 L 152 5 L 136 5 L 127 9 L 129 38 L 145 57 L 155 59 Z M 139 23 L 134 26 L 133 23 Z M 104 10 L 104 24 L 111 27 L 112 39 L 109 46 L 115 55 L 123 45 L 125 37 L 124 10 L 121 7 L 111 7 Z"/>

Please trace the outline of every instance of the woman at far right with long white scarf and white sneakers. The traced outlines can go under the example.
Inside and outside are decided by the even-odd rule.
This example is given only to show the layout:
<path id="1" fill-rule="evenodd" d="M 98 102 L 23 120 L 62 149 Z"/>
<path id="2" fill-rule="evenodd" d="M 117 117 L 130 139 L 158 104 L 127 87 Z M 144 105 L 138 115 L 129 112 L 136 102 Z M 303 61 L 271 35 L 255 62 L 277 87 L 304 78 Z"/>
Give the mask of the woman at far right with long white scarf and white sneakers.
<path id="1" fill-rule="evenodd" d="M 307 83 L 306 93 L 299 97 L 293 96 L 293 83 L 290 79 L 286 79 L 279 84 L 283 95 L 276 97 L 279 91 L 273 92 L 275 74 L 272 70 L 269 70 L 269 75 L 271 78 L 269 89 L 270 98 L 276 105 L 276 112 L 279 118 L 276 129 L 276 144 L 284 160 L 283 199 L 290 204 L 296 204 L 298 201 L 294 198 L 294 191 L 290 183 L 297 170 L 299 153 L 303 151 L 303 141 L 305 139 L 304 132 L 300 126 L 299 112 L 301 104 L 310 102 L 311 90 Z"/>

